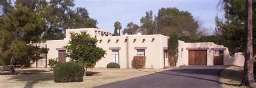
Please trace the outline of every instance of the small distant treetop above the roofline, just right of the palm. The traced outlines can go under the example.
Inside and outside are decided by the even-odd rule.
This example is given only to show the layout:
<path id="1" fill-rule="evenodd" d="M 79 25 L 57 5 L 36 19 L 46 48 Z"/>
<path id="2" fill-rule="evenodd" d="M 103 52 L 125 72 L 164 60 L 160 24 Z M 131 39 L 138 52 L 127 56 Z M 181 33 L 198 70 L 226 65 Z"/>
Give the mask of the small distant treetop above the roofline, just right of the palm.
<path id="1" fill-rule="evenodd" d="M 139 30 L 139 26 L 137 24 L 133 24 L 133 22 L 128 23 L 126 28 L 124 28 L 123 34 L 136 34 Z"/>

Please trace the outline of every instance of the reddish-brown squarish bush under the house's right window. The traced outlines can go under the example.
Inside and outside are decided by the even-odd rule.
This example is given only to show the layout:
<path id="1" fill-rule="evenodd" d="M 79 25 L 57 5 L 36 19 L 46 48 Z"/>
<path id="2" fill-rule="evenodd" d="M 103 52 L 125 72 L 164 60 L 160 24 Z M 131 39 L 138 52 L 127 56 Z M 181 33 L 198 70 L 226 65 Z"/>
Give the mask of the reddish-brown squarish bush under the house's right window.
<path id="1" fill-rule="evenodd" d="M 134 56 L 132 66 L 136 69 L 143 69 L 146 63 L 146 56 Z"/>

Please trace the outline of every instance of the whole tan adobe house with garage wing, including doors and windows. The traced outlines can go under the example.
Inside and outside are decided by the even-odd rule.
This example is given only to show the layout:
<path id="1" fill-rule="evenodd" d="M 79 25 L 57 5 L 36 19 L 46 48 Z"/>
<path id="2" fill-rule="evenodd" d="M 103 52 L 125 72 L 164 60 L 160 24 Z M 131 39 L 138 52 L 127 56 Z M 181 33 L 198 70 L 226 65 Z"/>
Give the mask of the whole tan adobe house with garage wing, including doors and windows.
<path id="1" fill-rule="evenodd" d="M 167 41 L 169 36 L 160 34 L 111 36 L 109 31 L 97 28 L 78 28 L 66 30 L 63 40 L 48 40 L 45 43 L 49 48 L 44 59 L 32 64 L 32 67 L 49 67 L 47 60 L 58 57 L 60 62 L 69 61 L 65 57 L 66 50 L 73 33 L 86 33 L 98 39 L 97 46 L 106 50 L 105 58 L 96 63 L 96 68 L 106 68 L 110 62 L 120 64 L 120 68 L 132 68 L 133 56 L 146 56 L 146 68 L 163 68 L 169 66 L 167 55 Z M 239 65 L 242 66 L 244 58 L 241 53 L 231 57 L 226 47 L 215 45 L 212 42 L 185 43 L 179 41 L 179 55 L 177 67 L 180 65 Z M 40 62 L 40 63 L 39 63 Z"/>

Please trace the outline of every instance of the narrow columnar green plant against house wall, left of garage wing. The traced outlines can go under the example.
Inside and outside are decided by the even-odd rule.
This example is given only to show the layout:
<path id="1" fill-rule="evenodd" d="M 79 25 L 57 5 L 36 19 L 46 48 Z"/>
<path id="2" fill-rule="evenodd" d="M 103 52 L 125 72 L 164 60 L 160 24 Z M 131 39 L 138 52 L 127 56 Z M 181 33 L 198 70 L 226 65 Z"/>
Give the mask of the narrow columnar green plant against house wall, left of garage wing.
<path id="1" fill-rule="evenodd" d="M 169 46 L 168 46 L 168 51 L 169 51 L 169 60 L 173 60 L 173 66 L 176 66 L 176 63 L 178 61 L 178 46 L 179 46 L 179 35 L 177 32 L 173 31 L 170 33 L 169 36 Z"/>

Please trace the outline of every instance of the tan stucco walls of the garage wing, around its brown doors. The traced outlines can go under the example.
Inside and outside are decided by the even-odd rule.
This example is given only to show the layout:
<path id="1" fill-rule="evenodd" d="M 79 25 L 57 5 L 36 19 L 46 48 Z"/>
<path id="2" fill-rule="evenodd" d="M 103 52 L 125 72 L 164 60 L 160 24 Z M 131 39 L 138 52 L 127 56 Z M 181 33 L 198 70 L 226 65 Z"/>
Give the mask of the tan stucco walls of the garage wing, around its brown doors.
<path id="1" fill-rule="evenodd" d="M 188 50 L 186 48 L 209 48 L 207 49 L 207 65 L 214 65 L 213 50 L 211 50 L 211 48 L 225 48 L 224 65 L 244 66 L 244 55 L 242 55 L 242 53 L 235 53 L 234 57 L 232 57 L 228 52 L 228 48 L 223 45 L 216 45 L 213 42 L 185 43 L 184 41 L 179 41 L 177 67 L 180 65 L 188 65 Z"/>

